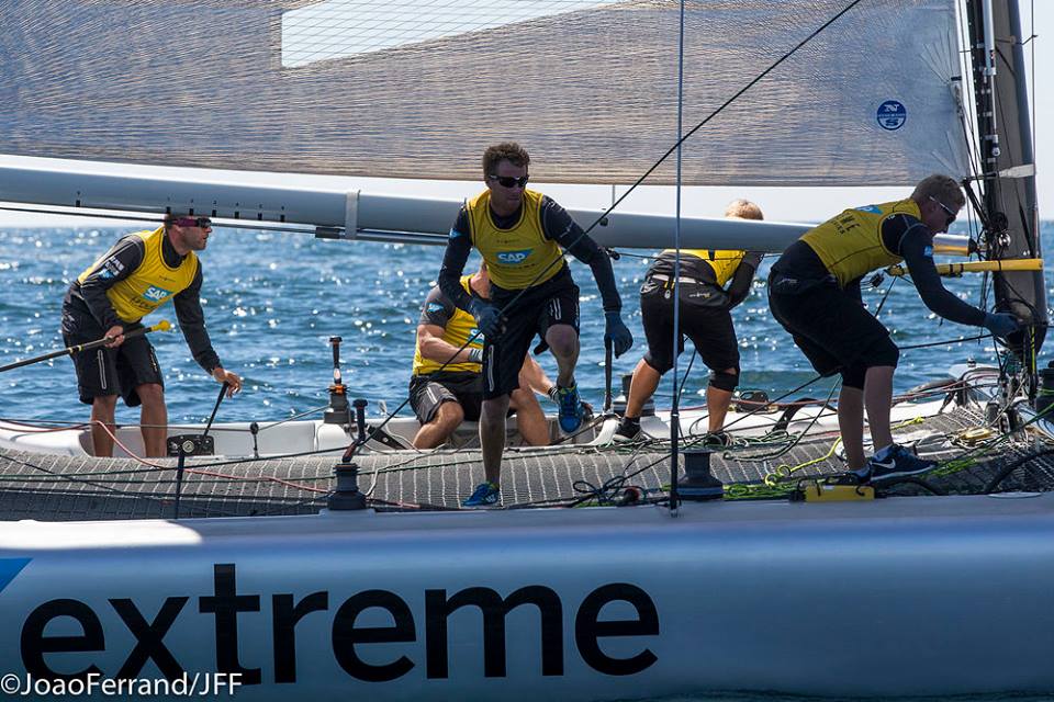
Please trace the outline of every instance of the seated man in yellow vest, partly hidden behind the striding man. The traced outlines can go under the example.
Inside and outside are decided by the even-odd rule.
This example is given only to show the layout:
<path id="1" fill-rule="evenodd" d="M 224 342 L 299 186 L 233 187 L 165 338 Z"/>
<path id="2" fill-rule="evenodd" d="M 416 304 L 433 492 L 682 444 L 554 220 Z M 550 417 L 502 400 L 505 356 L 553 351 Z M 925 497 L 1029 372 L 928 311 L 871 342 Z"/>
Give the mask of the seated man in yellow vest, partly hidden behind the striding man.
<path id="1" fill-rule="evenodd" d="M 462 276 L 461 286 L 470 295 L 490 298 L 486 263 L 481 263 L 472 275 Z M 417 322 L 414 371 L 410 378 L 410 405 L 421 422 L 414 437 L 416 449 L 435 449 L 462 421 L 480 419 L 483 337 L 475 336 L 475 318 L 455 306 L 438 285 L 433 287 Z M 519 385 L 509 401 L 509 409 L 516 412 L 519 434 L 531 446 L 548 445 L 549 424 L 535 392 L 553 397 L 556 385 L 530 355 L 524 359 Z"/>

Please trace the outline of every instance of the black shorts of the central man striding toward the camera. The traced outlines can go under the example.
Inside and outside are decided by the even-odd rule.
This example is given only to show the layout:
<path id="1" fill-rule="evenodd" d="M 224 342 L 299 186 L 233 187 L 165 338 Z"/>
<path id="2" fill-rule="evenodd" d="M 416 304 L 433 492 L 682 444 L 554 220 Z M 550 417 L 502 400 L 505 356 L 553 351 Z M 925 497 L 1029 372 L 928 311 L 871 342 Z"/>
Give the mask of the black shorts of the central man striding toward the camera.
<path id="1" fill-rule="evenodd" d="M 564 269 L 552 279 L 520 291 L 506 291 L 491 285 L 491 302 L 505 310 L 505 332 L 495 343 L 483 340 L 483 398 L 509 395 L 519 387 L 519 370 L 530 351 L 535 335 L 546 339 L 553 325 L 569 325 L 579 331 L 579 286 Z"/>

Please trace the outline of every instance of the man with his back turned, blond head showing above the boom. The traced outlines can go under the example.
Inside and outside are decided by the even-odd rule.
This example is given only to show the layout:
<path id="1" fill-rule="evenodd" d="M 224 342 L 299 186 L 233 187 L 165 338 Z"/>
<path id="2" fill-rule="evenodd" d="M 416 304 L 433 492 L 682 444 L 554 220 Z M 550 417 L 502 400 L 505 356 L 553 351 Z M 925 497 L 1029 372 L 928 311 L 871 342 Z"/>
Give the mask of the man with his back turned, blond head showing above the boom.
<path id="1" fill-rule="evenodd" d="M 747 200 L 732 202 L 726 217 L 762 219 L 761 208 Z M 750 294 L 754 271 L 761 263 L 755 251 L 681 250 L 680 341 L 673 349 L 673 288 L 676 251 L 666 249 L 644 274 L 640 287 L 640 314 L 648 337 L 648 352 L 633 370 L 626 411 L 616 441 L 633 441 L 640 435 L 640 412 L 660 378 L 673 367 L 674 355 L 684 351 L 684 338 L 695 344 L 703 363 L 710 369 L 706 388 L 707 443 L 728 445 L 722 431 L 725 416 L 739 384 L 739 344 L 730 310 Z M 731 281 L 728 290 L 725 285 Z"/>

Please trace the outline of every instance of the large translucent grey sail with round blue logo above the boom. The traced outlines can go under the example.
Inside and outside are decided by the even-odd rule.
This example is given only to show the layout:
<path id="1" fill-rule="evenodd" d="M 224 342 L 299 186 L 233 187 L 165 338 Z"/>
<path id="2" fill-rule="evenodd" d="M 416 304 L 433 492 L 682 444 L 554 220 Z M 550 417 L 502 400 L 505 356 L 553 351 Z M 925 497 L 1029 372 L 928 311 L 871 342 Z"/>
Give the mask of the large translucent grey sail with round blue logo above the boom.
<path id="1" fill-rule="evenodd" d="M 475 180 L 514 139 L 538 181 L 628 183 L 675 144 L 679 2 L 467 4 L 5 0 L 0 152 Z M 687 2 L 685 131 L 845 5 Z M 857 3 L 685 141 L 683 182 L 965 176 L 954 20 L 953 0 Z M 675 179 L 669 158 L 647 182 Z"/>

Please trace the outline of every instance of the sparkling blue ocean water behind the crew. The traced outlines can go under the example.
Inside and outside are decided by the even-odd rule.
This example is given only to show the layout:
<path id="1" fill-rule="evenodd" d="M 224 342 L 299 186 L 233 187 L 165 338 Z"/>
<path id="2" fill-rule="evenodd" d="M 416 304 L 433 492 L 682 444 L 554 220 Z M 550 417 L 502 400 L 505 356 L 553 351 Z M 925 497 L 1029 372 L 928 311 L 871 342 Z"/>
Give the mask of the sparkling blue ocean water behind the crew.
<path id="1" fill-rule="evenodd" d="M 0 229 L 0 364 L 63 347 L 58 331 L 63 295 L 69 281 L 127 229 Z M 1042 227 L 1051 245 L 1054 223 Z M 636 343 L 614 363 L 617 378 L 630 373 L 646 350 L 637 291 L 653 252 L 632 250 L 615 262 L 624 316 Z M 422 301 L 436 282 L 442 248 L 314 239 L 303 234 L 216 229 L 201 254 L 202 303 L 213 346 L 224 366 L 240 374 L 244 392 L 220 408 L 217 421 L 277 420 L 321 408 L 332 378 L 328 339 L 340 336 L 341 366 L 352 397 L 369 401 L 368 414 L 395 410 L 406 398 L 414 333 Z M 790 338 L 769 314 L 764 276 L 766 258 L 750 297 L 733 313 L 742 356 L 742 388 L 764 389 L 770 397 L 815 377 Z M 476 264 L 470 259 L 467 271 Z M 582 290 L 582 354 L 578 381 L 583 396 L 599 405 L 604 389 L 604 318 L 588 268 L 571 263 Z M 1049 271 L 1050 273 L 1050 271 Z M 982 276 L 945 279 L 960 297 L 982 302 Z M 1052 281 L 1049 275 L 1049 281 Z M 864 297 L 875 309 L 890 279 Z M 990 299 L 990 293 L 989 293 Z M 171 306 L 148 320 L 175 322 Z M 960 342 L 978 333 L 935 318 L 907 280 L 893 285 L 881 319 L 901 347 L 939 346 L 901 354 L 896 390 L 944 376 L 967 359 L 993 360 L 990 341 Z M 150 336 L 165 372 L 172 422 L 202 421 L 212 411 L 218 386 L 191 359 L 178 332 Z M 943 343 L 941 343 L 943 342 Z M 692 358 L 681 356 L 683 374 Z M 1044 356 L 1047 354 L 1043 354 Z M 550 374 L 551 356 L 539 358 Z M 1041 359 L 1045 364 L 1046 359 Z M 657 395 L 671 401 L 670 375 Z M 795 397 L 826 395 L 832 381 L 820 381 Z M 682 406 L 700 405 L 707 372 L 696 362 Z M 554 410 L 554 407 L 551 408 Z M 410 415 L 408 406 L 401 415 Z M 63 356 L 0 374 L 0 417 L 27 420 L 82 420 L 88 408 L 77 399 L 72 363 Z M 135 423 L 138 410 L 119 404 L 117 421 Z"/>

